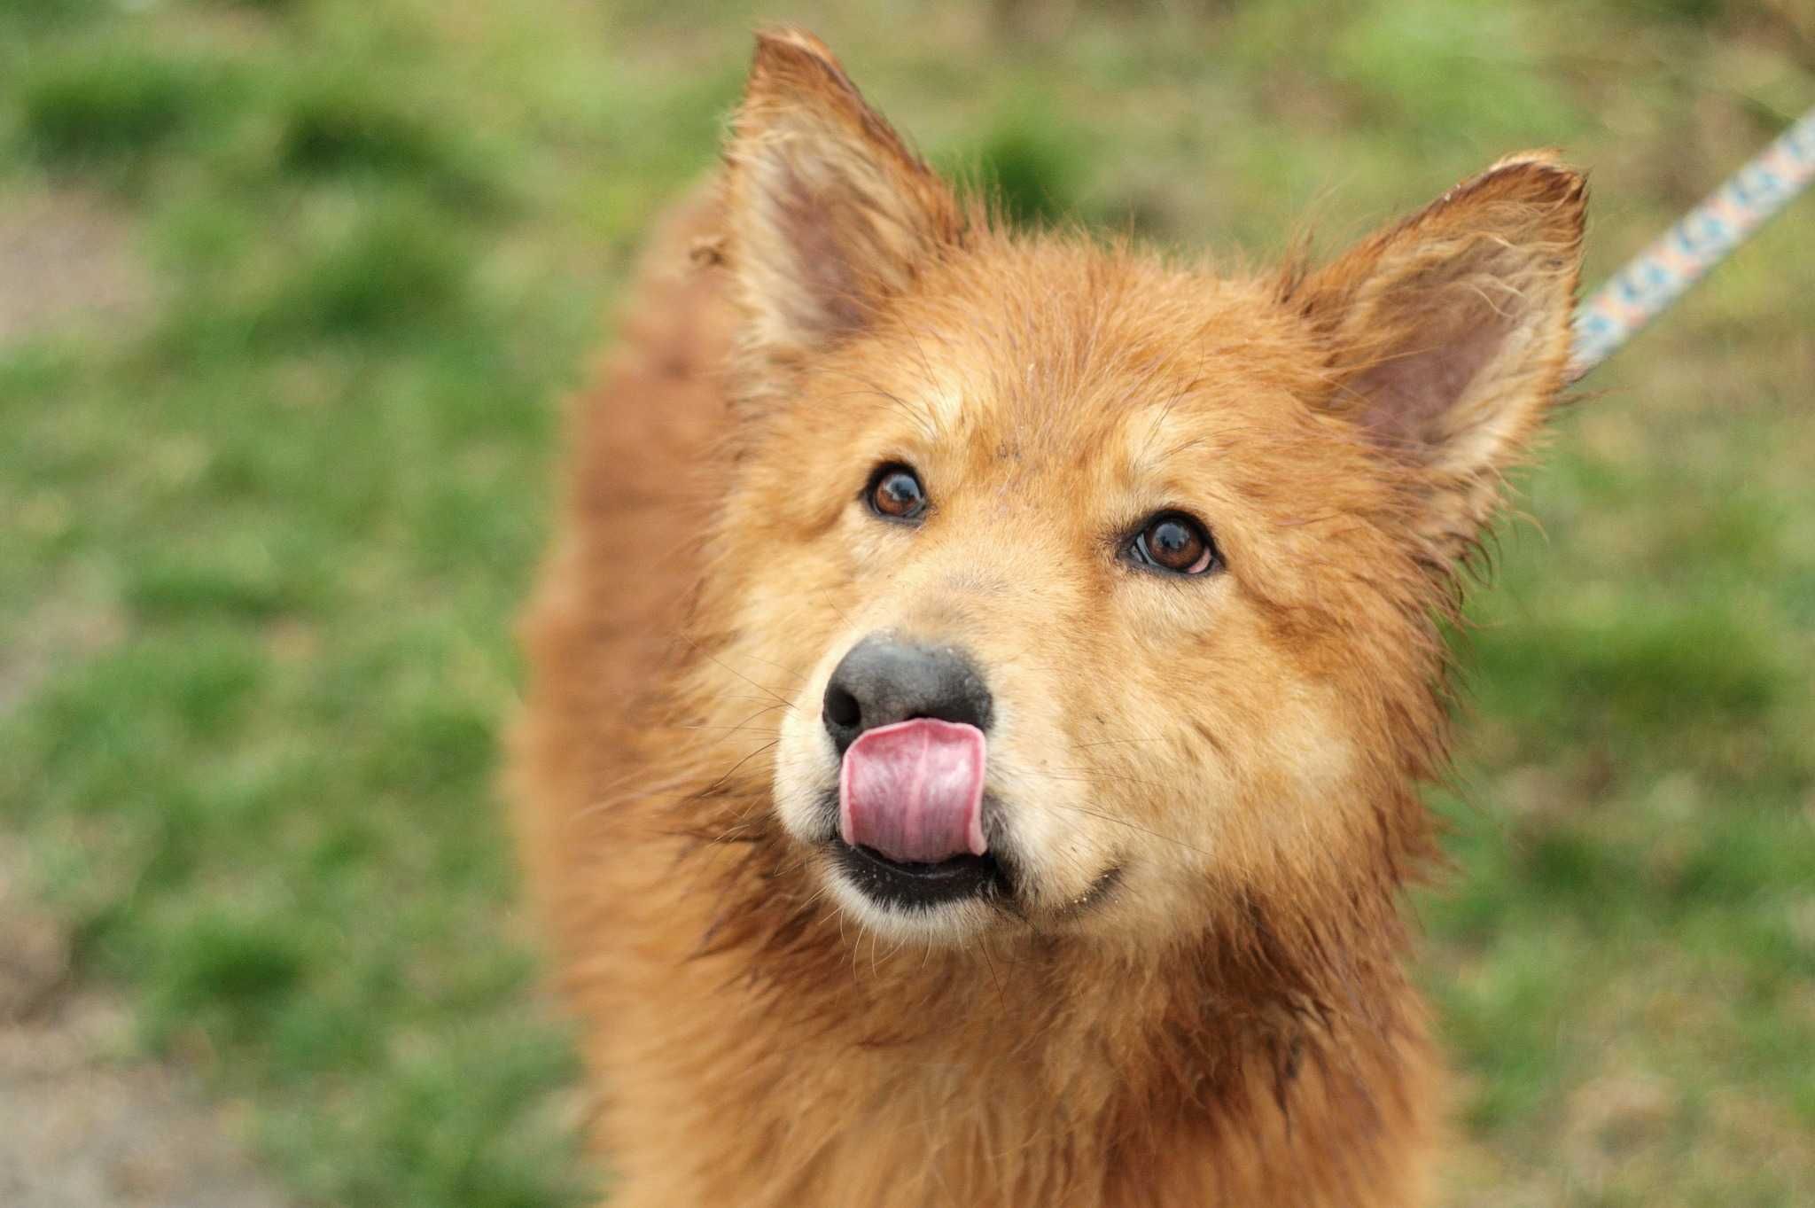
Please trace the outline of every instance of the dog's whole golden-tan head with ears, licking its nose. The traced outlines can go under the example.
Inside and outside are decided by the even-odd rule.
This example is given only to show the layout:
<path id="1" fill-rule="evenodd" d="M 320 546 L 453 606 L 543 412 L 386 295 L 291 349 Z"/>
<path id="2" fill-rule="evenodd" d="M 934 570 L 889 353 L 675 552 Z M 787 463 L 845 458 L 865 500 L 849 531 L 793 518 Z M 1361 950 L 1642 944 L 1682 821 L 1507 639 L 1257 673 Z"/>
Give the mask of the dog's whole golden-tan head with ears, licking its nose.
<path id="1" fill-rule="evenodd" d="M 1456 566 L 1563 385 L 1581 178 L 1514 156 L 1323 268 L 1216 276 L 1000 230 L 800 33 L 728 160 L 710 573 L 726 658 L 799 675 L 800 867 L 893 936 L 1390 898 Z"/>

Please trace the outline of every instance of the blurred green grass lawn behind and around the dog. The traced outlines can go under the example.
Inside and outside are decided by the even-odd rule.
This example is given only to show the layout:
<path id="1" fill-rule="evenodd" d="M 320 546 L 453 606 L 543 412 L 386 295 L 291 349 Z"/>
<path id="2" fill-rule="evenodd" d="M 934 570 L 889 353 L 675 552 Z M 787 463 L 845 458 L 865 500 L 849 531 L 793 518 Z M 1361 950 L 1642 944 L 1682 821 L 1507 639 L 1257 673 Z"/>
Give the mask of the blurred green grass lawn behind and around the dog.
<path id="1" fill-rule="evenodd" d="M 1256 258 L 1561 145 L 1599 281 L 1815 103 L 1802 0 L 0 4 L 0 825 L 303 1203 L 599 1186 L 510 619 L 777 16 L 1022 219 Z M 1588 383 L 1477 593 L 1448 1203 L 1815 1201 L 1811 203 Z"/>

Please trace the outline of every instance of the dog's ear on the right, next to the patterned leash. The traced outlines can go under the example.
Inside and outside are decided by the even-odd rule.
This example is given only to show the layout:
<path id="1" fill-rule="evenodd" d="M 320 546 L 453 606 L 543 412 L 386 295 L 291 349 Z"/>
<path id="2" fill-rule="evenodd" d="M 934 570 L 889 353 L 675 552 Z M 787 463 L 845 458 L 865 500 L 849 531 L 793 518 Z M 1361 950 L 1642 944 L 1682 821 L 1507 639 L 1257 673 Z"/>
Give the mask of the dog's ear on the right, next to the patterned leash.
<path id="1" fill-rule="evenodd" d="M 1405 464 L 1414 521 L 1465 551 L 1565 385 L 1586 187 L 1550 152 L 1463 181 L 1289 297 L 1330 357 L 1330 406 Z"/>

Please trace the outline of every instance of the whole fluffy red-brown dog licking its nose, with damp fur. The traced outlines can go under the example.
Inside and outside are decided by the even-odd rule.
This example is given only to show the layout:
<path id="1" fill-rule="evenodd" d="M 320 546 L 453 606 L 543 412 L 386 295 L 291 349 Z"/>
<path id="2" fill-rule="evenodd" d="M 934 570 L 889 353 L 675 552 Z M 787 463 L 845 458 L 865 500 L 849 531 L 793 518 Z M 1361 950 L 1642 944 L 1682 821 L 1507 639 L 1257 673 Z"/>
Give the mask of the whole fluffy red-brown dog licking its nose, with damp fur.
<path id="1" fill-rule="evenodd" d="M 759 40 L 528 622 L 615 1208 L 1425 1201 L 1398 898 L 1583 200 L 1517 154 L 1216 276 L 1004 230 Z"/>

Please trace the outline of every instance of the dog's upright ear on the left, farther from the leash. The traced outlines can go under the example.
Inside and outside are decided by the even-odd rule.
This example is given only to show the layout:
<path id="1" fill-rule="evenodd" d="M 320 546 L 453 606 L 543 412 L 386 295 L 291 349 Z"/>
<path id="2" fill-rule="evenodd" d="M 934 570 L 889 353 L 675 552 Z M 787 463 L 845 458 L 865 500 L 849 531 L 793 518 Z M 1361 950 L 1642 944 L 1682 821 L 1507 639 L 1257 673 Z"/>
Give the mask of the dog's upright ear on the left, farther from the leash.
<path id="1" fill-rule="evenodd" d="M 962 236 L 946 183 L 802 31 L 757 38 L 726 160 L 724 256 L 768 363 L 860 328 Z"/>

